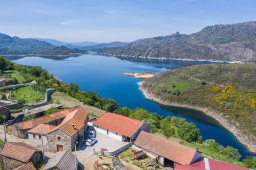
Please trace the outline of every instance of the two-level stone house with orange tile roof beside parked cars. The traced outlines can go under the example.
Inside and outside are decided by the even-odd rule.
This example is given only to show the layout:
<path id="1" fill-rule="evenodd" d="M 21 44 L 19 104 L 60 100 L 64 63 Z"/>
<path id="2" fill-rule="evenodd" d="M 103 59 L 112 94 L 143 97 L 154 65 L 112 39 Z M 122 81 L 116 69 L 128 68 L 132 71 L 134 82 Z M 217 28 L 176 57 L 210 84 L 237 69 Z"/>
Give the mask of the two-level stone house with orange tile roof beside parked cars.
<path id="1" fill-rule="evenodd" d="M 74 144 L 83 143 L 87 128 L 88 114 L 82 107 L 70 110 L 58 126 L 39 124 L 27 131 L 29 143 L 40 147 L 43 139 L 44 149 L 51 152 L 74 150 Z"/>

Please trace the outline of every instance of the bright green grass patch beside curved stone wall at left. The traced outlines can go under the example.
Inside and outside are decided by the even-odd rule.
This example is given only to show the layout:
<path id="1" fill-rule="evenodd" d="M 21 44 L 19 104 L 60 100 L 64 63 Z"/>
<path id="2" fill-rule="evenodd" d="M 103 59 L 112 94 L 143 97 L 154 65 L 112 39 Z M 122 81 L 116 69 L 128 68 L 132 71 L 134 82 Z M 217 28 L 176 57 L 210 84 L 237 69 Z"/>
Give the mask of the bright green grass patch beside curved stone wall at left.
<path id="1" fill-rule="evenodd" d="M 37 93 L 31 86 L 21 87 L 11 92 L 15 100 L 25 99 L 26 102 L 39 102 L 45 100 L 45 93 Z"/>

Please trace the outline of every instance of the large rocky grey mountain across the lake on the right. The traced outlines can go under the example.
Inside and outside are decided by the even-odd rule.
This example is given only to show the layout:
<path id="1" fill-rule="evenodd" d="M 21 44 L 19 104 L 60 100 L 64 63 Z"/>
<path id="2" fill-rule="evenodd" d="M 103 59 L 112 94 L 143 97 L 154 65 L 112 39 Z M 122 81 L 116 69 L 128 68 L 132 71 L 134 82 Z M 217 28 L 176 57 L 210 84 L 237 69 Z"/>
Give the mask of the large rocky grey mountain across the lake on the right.
<path id="1" fill-rule="evenodd" d="M 99 52 L 124 58 L 256 62 L 256 22 L 214 25 L 190 35 L 177 32 Z"/>

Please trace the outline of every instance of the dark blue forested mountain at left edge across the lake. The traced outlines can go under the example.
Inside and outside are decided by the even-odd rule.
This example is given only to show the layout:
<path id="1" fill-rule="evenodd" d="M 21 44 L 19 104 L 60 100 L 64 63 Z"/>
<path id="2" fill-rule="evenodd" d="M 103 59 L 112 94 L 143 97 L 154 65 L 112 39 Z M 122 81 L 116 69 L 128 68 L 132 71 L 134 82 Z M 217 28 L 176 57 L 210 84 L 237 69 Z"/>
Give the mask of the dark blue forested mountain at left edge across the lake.
<path id="1" fill-rule="evenodd" d="M 82 54 L 84 50 L 55 46 L 36 39 L 10 37 L 0 33 L 0 55 L 55 55 L 68 56 Z"/>

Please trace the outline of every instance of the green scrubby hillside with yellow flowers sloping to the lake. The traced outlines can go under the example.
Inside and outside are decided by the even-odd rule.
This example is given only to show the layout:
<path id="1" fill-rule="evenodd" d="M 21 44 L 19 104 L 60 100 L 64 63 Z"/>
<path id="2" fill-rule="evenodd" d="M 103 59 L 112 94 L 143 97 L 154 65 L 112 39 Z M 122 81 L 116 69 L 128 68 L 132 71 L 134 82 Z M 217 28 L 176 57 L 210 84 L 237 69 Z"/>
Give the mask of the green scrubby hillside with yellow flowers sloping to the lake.
<path id="1" fill-rule="evenodd" d="M 143 87 L 166 101 L 221 112 L 256 135 L 255 77 L 255 63 L 205 64 L 163 72 Z"/>

